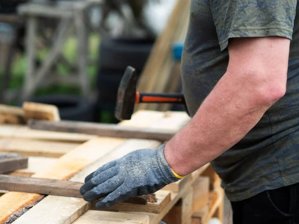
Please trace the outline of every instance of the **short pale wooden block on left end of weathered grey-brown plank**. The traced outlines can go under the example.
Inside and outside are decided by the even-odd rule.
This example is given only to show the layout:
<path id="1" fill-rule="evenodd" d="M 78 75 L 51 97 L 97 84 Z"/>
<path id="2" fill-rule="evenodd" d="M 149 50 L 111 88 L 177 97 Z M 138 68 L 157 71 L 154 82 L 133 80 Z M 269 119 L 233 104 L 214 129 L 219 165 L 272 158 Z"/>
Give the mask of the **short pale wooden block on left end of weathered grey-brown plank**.
<path id="1" fill-rule="evenodd" d="M 23 110 L 26 120 L 39 119 L 60 121 L 58 108 L 54 105 L 24 102 Z"/>

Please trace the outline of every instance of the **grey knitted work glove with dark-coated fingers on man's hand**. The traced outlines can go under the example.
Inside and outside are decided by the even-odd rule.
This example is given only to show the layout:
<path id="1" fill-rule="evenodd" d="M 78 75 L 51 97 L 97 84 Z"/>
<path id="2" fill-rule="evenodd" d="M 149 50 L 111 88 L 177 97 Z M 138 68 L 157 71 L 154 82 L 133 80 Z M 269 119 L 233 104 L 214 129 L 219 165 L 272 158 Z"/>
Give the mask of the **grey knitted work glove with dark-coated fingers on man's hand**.
<path id="1" fill-rule="evenodd" d="M 80 192 L 85 201 L 104 209 L 129 197 L 154 193 L 178 181 L 164 157 L 164 145 L 156 149 L 140 149 L 100 167 L 85 178 Z"/>

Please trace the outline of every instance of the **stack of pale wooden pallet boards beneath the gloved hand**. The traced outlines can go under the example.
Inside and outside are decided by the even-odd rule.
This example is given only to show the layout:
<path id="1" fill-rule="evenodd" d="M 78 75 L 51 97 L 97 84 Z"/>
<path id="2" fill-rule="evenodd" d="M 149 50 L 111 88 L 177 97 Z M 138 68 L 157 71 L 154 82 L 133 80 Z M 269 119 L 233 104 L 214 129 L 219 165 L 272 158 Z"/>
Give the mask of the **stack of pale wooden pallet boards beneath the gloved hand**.
<path id="1" fill-rule="evenodd" d="M 32 107 L 31 114 L 45 111 L 51 114 L 51 110 L 40 107 Z M 178 130 L 188 120 L 184 112 L 139 111 L 119 125 Z M 84 182 L 101 165 L 161 143 L 32 130 L 20 124 L 0 126 L 0 151 L 29 156 L 28 168 L 11 175 L 36 178 Z M 81 198 L 7 192 L 0 196 L 0 224 L 158 224 L 161 220 L 167 224 L 206 224 L 213 216 L 222 219 L 223 191 L 209 164 L 156 192 L 156 198 L 157 202 L 147 205 L 120 203 L 106 211 L 95 211 Z"/>

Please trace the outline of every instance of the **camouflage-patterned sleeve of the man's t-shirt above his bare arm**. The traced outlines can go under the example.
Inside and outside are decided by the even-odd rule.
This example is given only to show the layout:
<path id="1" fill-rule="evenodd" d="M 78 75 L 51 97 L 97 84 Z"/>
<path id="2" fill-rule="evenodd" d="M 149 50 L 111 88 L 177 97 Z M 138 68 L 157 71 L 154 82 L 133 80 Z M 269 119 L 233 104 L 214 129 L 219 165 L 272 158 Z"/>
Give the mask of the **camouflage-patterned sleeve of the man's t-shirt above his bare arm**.
<path id="1" fill-rule="evenodd" d="M 210 0 L 221 51 L 234 37 L 292 40 L 297 0 Z"/>

